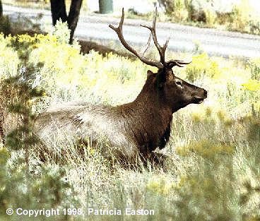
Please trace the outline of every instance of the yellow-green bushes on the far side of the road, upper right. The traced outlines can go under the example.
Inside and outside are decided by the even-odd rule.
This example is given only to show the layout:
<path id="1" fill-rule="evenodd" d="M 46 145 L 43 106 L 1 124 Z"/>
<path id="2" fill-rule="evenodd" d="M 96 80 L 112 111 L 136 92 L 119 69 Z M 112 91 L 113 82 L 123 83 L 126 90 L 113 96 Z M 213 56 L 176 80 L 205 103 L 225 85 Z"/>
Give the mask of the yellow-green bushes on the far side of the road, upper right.
<path id="1" fill-rule="evenodd" d="M 218 11 L 217 1 L 206 0 L 158 0 L 165 13 L 174 22 L 204 25 L 259 35 L 259 15 L 248 0 L 240 0 L 228 11 Z"/>

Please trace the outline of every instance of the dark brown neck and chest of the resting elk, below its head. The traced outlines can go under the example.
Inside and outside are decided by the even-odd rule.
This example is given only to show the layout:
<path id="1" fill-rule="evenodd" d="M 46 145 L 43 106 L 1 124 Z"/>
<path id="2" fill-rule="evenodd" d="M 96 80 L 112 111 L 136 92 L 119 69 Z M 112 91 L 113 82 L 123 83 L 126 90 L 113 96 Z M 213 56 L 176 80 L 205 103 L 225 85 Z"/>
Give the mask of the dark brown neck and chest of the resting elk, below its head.
<path id="1" fill-rule="evenodd" d="M 172 107 L 160 97 L 158 90 L 144 85 L 133 102 L 117 107 L 117 113 L 124 129 L 129 129 L 137 141 L 137 145 L 144 149 L 141 152 L 164 148 L 170 136 L 172 121 Z"/>

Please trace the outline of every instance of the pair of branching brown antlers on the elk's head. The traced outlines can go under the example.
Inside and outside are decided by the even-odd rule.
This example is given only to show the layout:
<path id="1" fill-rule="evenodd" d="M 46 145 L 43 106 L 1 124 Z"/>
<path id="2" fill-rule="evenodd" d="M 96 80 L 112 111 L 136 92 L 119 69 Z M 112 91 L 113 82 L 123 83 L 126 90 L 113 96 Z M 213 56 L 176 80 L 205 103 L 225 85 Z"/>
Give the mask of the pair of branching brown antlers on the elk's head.
<path id="1" fill-rule="evenodd" d="M 138 59 L 140 59 L 141 61 L 143 61 L 143 63 L 148 64 L 150 66 L 155 66 L 157 68 L 172 68 L 173 66 L 179 66 L 182 67 L 182 65 L 184 64 L 190 64 L 191 62 L 184 62 L 184 61 L 179 61 L 179 60 L 170 60 L 165 62 L 165 51 L 167 49 L 170 37 L 166 40 L 165 44 L 163 44 L 163 47 L 160 46 L 160 44 L 158 43 L 157 40 L 157 35 L 156 35 L 156 31 L 155 31 L 155 24 L 156 24 L 156 16 L 157 16 L 157 8 L 155 8 L 155 15 L 153 17 L 153 27 L 147 26 L 147 25 L 141 25 L 144 28 L 148 28 L 150 30 L 150 35 L 152 35 L 153 37 L 153 42 L 155 44 L 155 47 L 158 49 L 158 52 L 160 54 L 160 62 L 159 61 L 152 61 L 147 59 L 144 55 L 144 53 L 146 52 L 146 50 L 149 47 L 150 44 L 150 36 L 149 36 L 149 40 L 146 46 L 146 49 L 142 54 L 139 54 L 138 52 L 136 52 L 136 50 L 131 47 L 126 40 L 124 40 L 124 35 L 123 35 L 123 23 L 124 23 L 124 8 L 122 8 L 122 17 L 119 23 L 119 26 L 117 28 L 115 28 L 113 25 L 109 25 L 110 28 L 112 28 L 112 30 L 114 30 L 117 33 L 117 36 L 119 37 L 120 42 L 123 44 L 123 46 L 129 50 L 129 52 L 132 52 L 134 55 L 136 55 L 138 57 Z"/>

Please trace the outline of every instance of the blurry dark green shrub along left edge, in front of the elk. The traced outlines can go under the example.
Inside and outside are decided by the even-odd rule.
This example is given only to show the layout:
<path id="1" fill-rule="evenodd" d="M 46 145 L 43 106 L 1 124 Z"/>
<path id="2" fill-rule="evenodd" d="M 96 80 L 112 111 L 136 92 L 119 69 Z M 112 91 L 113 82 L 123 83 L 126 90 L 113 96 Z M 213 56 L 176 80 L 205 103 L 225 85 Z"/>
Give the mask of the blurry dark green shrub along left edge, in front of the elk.
<path id="1" fill-rule="evenodd" d="M 3 36 L 1 36 L 3 37 Z M 32 105 L 37 104 L 43 91 L 37 87 L 36 73 L 41 64 L 34 66 L 29 61 L 30 53 L 37 43 L 36 39 L 22 37 L 6 37 L 6 44 L 2 49 L 10 49 L 17 59 L 17 72 L 12 75 L 1 75 L 1 127 L 6 126 L 8 116 L 11 115 L 13 129 L 5 130 L 6 141 L 0 146 L 0 216 L 8 219 L 6 209 L 23 208 L 28 210 L 41 210 L 46 208 L 67 208 L 69 184 L 64 181 L 64 169 L 54 165 L 40 165 L 39 159 L 33 155 L 37 137 L 32 133 L 32 124 L 35 119 Z M 4 39 L 3 39 L 4 40 Z M 37 203 L 35 203 L 37 201 Z M 11 220 L 19 220 L 18 215 L 13 215 Z M 23 217 L 23 220 L 30 220 Z M 43 219 L 45 220 L 45 219 Z M 66 215 L 60 215 L 57 220 L 67 220 Z"/>

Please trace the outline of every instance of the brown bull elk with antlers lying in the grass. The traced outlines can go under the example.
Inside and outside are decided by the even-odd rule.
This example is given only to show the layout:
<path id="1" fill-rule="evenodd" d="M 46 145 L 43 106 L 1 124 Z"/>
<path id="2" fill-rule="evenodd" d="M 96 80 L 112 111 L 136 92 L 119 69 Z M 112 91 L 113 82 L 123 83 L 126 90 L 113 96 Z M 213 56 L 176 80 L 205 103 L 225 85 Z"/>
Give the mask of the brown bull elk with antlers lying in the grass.
<path id="1" fill-rule="evenodd" d="M 35 121 L 35 133 L 42 141 L 47 143 L 57 140 L 62 143 L 66 142 L 68 136 L 73 141 L 85 137 L 96 141 L 105 136 L 117 157 L 126 160 L 136 159 L 137 156 L 147 160 L 154 155 L 153 150 L 165 147 L 170 137 L 172 114 L 188 104 L 200 104 L 207 97 L 207 91 L 187 83 L 173 73 L 173 66 L 182 67 L 189 63 L 165 61 L 169 40 L 162 47 L 158 43 L 156 14 L 157 11 L 152 27 L 141 26 L 150 30 L 160 61 L 146 58 L 124 40 L 124 8 L 119 26 L 115 28 L 109 25 L 129 52 L 144 64 L 158 68 L 157 73 L 147 71 L 146 83 L 136 100 L 116 107 L 83 103 L 49 110 L 40 114 Z"/>

